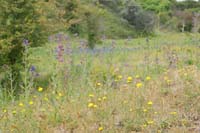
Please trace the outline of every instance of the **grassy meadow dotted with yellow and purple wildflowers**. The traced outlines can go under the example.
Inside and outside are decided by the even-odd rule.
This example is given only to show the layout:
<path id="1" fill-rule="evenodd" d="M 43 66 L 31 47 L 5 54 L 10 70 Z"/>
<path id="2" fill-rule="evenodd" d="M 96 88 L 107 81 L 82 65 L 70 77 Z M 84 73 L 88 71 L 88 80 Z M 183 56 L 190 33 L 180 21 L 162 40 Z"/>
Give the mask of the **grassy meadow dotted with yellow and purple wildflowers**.
<path id="1" fill-rule="evenodd" d="M 52 53 L 57 44 L 31 49 L 40 76 L 28 98 L 1 100 L 0 132 L 198 132 L 199 40 L 161 34 L 114 40 L 102 52 L 106 40 L 100 53 L 68 54 L 65 63 Z"/>

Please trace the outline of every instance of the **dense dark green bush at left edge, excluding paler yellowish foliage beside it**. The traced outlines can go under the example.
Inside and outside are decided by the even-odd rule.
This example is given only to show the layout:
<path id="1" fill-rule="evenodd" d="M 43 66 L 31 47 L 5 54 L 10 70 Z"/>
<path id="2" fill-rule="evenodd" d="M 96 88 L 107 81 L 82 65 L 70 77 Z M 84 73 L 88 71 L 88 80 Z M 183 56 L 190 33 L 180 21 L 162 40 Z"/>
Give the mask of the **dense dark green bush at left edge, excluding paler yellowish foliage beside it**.
<path id="1" fill-rule="evenodd" d="M 20 71 L 24 68 L 23 44 L 39 46 L 47 36 L 39 23 L 34 0 L 1 0 L 0 10 L 0 67 L 6 65 L 11 69 L 13 83 L 18 88 Z"/>

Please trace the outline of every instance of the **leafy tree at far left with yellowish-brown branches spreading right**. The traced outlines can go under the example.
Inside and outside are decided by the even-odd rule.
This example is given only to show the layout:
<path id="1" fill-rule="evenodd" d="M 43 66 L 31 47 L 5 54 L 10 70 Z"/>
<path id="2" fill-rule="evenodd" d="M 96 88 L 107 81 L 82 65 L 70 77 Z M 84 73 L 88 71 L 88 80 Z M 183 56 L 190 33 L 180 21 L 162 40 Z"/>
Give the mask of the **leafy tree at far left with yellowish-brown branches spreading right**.
<path id="1" fill-rule="evenodd" d="M 66 31 L 75 23 L 75 8 L 76 0 L 0 0 L 0 77 L 8 66 L 19 89 L 27 45 L 41 46 L 50 34 Z"/>

